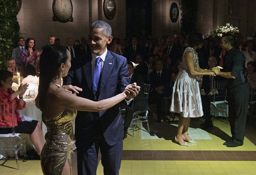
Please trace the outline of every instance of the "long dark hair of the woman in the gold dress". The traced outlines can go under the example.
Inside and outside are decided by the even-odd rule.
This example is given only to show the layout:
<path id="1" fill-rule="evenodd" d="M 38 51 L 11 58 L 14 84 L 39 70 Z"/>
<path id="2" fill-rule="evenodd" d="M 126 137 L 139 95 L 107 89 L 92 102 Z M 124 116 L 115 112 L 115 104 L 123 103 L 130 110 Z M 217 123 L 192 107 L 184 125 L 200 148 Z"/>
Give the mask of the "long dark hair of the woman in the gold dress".
<path id="1" fill-rule="evenodd" d="M 44 110 L 45 97 L 50 82 L 57 78 L 61 63 L 68 59 L 67 49 L 62 45 L 47 45 L 40 57 L 40 78 L 39 78 L 39 106 Z"/>

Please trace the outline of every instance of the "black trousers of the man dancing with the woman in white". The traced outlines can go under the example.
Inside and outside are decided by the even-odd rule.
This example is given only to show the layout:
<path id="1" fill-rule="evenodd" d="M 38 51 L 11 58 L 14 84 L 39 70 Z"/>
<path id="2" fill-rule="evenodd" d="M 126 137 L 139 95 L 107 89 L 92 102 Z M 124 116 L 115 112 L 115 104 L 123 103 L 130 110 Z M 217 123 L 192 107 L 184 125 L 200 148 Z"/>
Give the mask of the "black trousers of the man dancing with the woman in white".
<path id="1" fill-rule="evenodd" d="M 228 89 L 228 119 L 233 142 L 244 143 L 244 132 L 249 103 L 249 84 Z"/>

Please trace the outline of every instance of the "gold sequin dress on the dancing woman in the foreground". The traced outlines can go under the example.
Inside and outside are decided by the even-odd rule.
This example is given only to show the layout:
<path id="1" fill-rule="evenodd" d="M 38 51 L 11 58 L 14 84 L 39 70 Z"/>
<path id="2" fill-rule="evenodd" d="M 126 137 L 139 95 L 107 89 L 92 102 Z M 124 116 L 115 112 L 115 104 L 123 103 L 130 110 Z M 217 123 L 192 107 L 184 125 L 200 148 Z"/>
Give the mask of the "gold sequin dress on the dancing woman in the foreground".
<path id="1" fill-rule="evenodd" d="M 50 120 L 43 118 L 47 127 L 46 143 L 41 152 L 41 167 L 44 175 L 61 175 L 66 160 L 69 161 L 71 171 L 71 153 L 75 144 L 72 121 L 75 117 L 76 111 L 64 109 L 56 118 Z"/>

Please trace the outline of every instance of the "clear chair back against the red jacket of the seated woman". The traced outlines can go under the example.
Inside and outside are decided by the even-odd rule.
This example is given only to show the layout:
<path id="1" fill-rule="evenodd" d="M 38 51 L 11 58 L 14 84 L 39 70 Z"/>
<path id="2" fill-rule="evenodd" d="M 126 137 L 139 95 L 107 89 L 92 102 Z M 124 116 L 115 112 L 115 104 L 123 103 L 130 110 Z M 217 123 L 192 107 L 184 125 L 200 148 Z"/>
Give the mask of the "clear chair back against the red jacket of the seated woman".
<path id="1" fill-rule="evenodd" d="M 17 122 L 14 118 L 14 103 L 0 104 L 0 128 L 12 127 L 12 135 L 15 135 Z"/>

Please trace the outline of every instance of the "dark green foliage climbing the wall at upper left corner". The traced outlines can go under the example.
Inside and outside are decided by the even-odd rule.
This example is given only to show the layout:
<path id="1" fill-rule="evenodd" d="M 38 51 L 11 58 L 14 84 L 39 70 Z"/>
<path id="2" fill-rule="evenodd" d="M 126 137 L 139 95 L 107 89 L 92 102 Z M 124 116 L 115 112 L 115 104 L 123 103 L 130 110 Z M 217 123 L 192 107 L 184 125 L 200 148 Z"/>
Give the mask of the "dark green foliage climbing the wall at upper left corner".
<path id="1" fill-rule="evenodd" d="M 0 0 L 0 69 L 5 69 L 5 60 L 12 56 L 12 49 L 19 38 L 16 0 Z"/>

